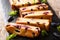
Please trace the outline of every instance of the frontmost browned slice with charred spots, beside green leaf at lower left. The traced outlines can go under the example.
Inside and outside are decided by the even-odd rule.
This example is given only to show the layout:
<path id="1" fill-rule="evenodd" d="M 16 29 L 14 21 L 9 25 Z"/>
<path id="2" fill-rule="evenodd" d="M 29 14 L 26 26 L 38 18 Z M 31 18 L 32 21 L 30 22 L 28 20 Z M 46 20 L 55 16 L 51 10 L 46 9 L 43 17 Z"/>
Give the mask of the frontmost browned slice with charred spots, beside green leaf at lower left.
<path id="1" fill-rule="evenodd" d="M 10 33 L 16 33 L 17 35 L 30 38 L 37 37 L 40 32 L 39 27 L 16 23 L 9 23 L 6 25 L 6 30 Z"/>

